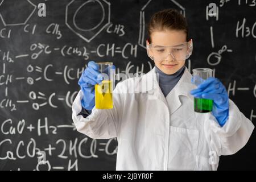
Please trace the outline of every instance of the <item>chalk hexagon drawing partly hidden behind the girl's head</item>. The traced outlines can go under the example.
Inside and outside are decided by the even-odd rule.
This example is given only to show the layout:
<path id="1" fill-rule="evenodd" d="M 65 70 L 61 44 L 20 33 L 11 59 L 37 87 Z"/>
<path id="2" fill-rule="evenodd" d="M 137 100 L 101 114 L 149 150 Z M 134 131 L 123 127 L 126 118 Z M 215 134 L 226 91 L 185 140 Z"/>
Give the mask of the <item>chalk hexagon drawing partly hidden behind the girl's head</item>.
<path id="1" fill-rule="evenodd" d="M 155 13 L 156 11 L 163 10 L 163 8 L 166 9 L 166 7 L 174 8 L 176 10 L 179 10 L 181 14 L 185 17 L 185 8 L 181 6 L 179 3 L 177 3 L 174 0 L 168 0 L 163 1 L 163 3 L 160 3 L 160 1 L 154 1 L 154 0 L 148 0 L 148 2 L 142 7 L 140 14 L 139 14 L 139 40 L 138 44 L 139 46 L 146 49 L 146 39 L 145 35 L 147 35 L 146 32 L 146 23 L 150 20 L 150 14 Z M 145 13 L 147 13 L 147 16 L 145 17 Z"/>

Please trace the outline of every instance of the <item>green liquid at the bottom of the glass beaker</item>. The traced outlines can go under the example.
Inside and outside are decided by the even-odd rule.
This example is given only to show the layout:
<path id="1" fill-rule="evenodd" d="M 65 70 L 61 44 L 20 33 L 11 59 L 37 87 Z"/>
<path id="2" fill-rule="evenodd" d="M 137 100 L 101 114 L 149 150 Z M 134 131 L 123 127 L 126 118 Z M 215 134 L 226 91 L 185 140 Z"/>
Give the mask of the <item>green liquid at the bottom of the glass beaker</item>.
<path id="1" fill-rule="evenodd" d="M 194 98 L 194 110 L 197 113 L 208 113 L 212 111 L 213 100 L 205 98 Z"/>

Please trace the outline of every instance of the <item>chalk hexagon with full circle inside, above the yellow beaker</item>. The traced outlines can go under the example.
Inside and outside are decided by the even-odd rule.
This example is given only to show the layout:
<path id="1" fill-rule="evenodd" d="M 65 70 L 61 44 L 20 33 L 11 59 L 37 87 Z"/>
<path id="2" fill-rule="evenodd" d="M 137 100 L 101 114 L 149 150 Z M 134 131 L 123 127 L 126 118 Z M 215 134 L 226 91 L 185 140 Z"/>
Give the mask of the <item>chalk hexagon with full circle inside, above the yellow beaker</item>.
<path id="1" fill-rule="evenodd" d="M 65 23 L 89 43 L 110 23 L 110 3 L 105 0 L 72 0 L 66 6 Z"/>

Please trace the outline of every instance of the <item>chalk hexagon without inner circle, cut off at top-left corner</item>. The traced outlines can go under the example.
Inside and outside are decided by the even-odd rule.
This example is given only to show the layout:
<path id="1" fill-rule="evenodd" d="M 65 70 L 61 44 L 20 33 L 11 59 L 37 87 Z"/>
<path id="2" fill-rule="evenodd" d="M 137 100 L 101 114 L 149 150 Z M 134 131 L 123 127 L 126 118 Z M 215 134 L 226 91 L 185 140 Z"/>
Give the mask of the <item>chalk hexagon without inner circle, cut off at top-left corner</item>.
<path id="1" fill-rule="evenodd" d="M 4 26 L 24 25 L 36 10 L 30 0 L 0 0 L 0 19 Z"/>

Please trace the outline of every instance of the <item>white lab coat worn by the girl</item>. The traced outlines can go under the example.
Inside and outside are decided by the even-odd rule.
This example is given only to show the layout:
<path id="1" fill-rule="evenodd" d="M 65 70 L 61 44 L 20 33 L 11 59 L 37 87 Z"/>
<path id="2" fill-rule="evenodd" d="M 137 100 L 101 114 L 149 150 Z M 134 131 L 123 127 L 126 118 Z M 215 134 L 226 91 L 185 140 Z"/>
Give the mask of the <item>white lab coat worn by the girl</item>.
<path id="1" fill-rule="evenodd" d="M 229 119 L 220 127 L 211 113 L 193 111 L 189 91 L 195 85 L 187 68 L 166 98 L 154 73 L 155 67 L 146 75 L 119 82 L 113 109 L 94 107 L 84 118 L 79 115 L 81 90 L 73 102 L 77 131 L 96 139 L 117 137 L 117 170 L 216 170 L 220 155 L 245 146 L 254 125 L 232 100 Z"/>

